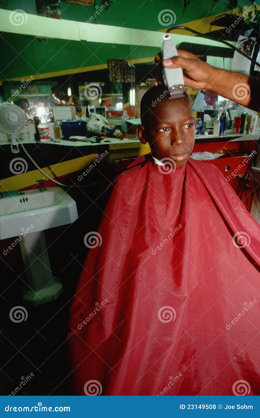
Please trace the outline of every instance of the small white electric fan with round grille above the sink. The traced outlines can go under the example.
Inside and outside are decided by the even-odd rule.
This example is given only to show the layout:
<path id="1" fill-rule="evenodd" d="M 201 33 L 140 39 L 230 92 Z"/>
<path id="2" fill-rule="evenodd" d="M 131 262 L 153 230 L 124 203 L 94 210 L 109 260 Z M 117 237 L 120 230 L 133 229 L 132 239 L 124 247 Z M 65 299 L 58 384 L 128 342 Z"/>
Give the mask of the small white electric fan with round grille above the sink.
<path id="1" fill-rule="evenodd" d="M 11 135 L 12 153 L 19 152 L 19 145 L 16 143 L 15 134 L 22 132 L 25 123 L 25 113 L 20 107 L 11 103 L 0 104 L 0 130 Z"/>

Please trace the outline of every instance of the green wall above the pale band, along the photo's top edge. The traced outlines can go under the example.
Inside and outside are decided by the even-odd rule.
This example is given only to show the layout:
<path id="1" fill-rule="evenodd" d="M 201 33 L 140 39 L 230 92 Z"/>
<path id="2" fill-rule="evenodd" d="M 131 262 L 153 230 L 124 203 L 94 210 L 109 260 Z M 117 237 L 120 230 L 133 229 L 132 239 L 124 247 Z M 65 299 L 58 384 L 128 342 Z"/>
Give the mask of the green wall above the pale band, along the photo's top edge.
<path id="1" fill-rule="evenodd" d="M 176 15 L 175 24 L 179 24 L 231 10 L 236 7 L 237 3 L 249 5 L 250 1 L 207 0 L 202 2 L 201 0 L 191 0 L 184 12 L 183 0 L 117 0 L 112 2 L 108 10 L 102 10 L 98 15 L 101 0 L 96 0 L 92 6 L 64 1 L 61 1 L 60 5 L 61 19 L 85 22 L 92 16 L 95 17 L 94 20 L 91 20 L 92 23 L 158 31 L 164 27 L 158 22 L 158 14 L 162 10 L 173 10 Z M 258 4 L 259 0 L 256 3 Z M 22 9 L 26 13 L 36 14 L 36 6 L 33 0 L 5 0 L 5 3 L 0 3 L 0 8 L 7 10 Z M 96 16 L 94 16 L 95 12 Z"/>

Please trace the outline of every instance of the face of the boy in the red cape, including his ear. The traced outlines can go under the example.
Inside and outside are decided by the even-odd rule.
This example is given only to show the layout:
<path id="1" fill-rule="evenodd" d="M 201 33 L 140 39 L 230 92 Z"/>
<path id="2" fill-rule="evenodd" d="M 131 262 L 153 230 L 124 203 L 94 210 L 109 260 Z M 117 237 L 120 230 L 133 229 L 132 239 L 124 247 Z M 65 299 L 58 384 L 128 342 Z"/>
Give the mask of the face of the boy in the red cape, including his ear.
<path id="1" fill-rule="evenodd" d="M 189 98 L 164 98 L 148 112 L 148 127 L 139 126 L 136 130 L 140 142 L 148 142 L 158 160 L 166 158 L 173 160 L 176 168 L 184 166 L 191 155 L 196 130 Z"/>

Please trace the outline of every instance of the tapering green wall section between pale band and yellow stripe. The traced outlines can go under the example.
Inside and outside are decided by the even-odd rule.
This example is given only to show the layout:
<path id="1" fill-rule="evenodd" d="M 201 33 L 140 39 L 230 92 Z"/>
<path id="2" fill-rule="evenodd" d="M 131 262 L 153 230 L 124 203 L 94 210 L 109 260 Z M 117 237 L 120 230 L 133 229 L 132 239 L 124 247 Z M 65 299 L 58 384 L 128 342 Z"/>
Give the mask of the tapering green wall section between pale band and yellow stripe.
<path id="1" fill-rule="evenodd" d="M 3 33 L 0 48 L 5 51 L 1 59 L 1 79 L 107 64 L 108 59 L 131 58 L 130 45 L 66 39 L 40 41 L 33 36 L 14 33 Z M 133 59 L 158 53 L 158 47 L 135 46 L 133 49 Z"/>

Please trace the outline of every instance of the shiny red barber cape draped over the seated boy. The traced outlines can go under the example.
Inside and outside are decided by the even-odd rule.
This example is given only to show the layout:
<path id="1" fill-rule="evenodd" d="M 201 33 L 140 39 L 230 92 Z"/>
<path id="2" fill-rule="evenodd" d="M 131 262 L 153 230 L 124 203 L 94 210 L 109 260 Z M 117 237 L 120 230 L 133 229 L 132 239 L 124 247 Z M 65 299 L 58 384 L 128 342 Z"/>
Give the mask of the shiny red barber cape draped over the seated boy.
<path id="1" fill-rule="evenodd" d="M 260 226 L 219 170 L 138 158 L 97 232 L 70 312 L 71 393 L 260 395 Z"/>

